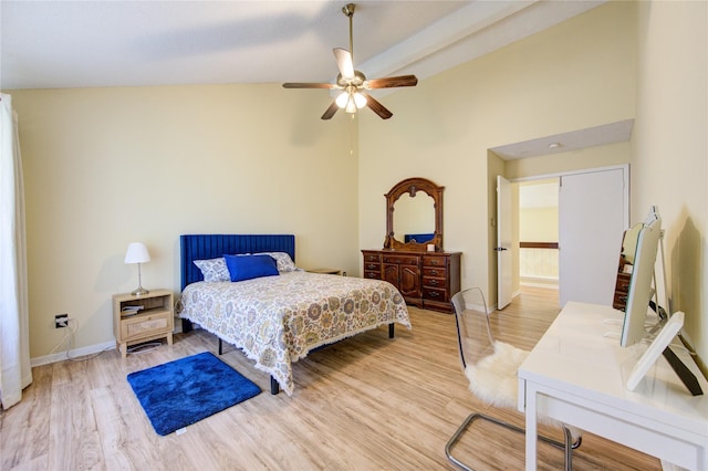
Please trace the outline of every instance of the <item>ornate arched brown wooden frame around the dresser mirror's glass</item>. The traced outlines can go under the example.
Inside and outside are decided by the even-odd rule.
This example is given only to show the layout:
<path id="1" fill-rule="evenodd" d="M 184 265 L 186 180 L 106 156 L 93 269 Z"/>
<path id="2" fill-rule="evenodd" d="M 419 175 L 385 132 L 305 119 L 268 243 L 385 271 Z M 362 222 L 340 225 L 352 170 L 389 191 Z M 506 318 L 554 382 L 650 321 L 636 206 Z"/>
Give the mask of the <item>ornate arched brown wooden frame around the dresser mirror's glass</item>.
<path id="1" fill-rule="evenodd" d="M 425 251 L 429 243 L 435 244 L 436 251 L 442 250 L 442 190 L 445 187 L 438 187 L 433 181 L 425 178 L 408 178 L 399 181 L 394 186 L 386 197 L 386 240 L 384 249 L 392 250 L 415 250 Z M 416 241 L 402 242 L 395 239 L 394 234 L 394 206 L 402 195 L 408 193 L 415 198 L 418 191 L 426 192 L 434 201 L 435 210 L 435 233 L 433 239 L 423 243 Z"/>

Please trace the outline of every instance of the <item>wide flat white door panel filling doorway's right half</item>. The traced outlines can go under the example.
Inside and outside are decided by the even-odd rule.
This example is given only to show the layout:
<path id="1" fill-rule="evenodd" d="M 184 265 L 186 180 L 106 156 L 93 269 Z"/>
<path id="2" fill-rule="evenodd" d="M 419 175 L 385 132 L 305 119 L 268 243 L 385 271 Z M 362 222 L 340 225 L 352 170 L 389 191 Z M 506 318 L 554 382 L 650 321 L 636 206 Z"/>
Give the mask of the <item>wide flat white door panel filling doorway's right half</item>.
<path id="1" fill-rule="evenodd" d="M 561 306 L 569 301 L 612 305 L 622 234 L 628 226 L 626 178 L 626 168 L 561 177 Z"/>

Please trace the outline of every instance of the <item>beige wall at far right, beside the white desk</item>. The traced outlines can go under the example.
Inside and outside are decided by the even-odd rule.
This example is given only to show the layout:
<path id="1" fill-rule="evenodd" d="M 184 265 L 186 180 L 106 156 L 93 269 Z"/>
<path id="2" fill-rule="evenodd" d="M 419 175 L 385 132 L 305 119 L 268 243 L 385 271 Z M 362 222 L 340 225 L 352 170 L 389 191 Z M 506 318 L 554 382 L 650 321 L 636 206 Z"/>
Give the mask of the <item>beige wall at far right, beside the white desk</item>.
<path id="1" fill-rule="evenodd" d="M 708 2 L 641 2 L 632 222 L 657 205 L 669 295 L 708 373 Z"/>

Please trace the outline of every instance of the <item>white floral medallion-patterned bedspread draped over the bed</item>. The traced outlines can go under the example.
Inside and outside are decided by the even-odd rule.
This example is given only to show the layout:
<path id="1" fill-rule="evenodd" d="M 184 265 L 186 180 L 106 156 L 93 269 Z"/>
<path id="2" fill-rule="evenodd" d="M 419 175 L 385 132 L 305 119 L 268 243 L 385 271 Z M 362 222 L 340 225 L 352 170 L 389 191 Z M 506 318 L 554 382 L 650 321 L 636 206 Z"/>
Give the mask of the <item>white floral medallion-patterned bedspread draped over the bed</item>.
<path id="1" fill-rule="evenodd" d="M 236 283 L 192 283 L 179 316 L 241 348 L 292 395 L 292 364 L 310 350 L 397 322 L 408 308 L 388 282 L 308 272 Z"/>

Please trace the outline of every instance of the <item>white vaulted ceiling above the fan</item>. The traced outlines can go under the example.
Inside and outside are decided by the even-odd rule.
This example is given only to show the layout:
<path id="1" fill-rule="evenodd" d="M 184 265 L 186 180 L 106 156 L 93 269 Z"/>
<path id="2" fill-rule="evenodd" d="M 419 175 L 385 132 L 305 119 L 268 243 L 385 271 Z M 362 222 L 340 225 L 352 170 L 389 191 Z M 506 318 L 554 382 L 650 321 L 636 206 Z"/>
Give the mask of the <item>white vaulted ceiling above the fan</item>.
<path id="1" fill-rule="evenodd" d="M 358 1 L 354 63 L 419 80 L 597 1 Z M 0 87 L 330 82 L 345 1 L 0 1 Z"/>

